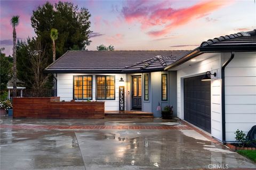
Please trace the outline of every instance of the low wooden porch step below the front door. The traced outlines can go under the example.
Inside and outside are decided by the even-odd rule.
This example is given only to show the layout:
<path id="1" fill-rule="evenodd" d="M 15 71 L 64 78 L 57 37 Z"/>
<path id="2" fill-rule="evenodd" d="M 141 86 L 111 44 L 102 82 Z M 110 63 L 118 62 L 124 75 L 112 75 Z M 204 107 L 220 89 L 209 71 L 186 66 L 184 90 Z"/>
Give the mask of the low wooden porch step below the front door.
<path id="1" fill-rule="evenodd" d="M 106 111 L 105 118 L 154 118 L 153 113 L 140 111 Z"/>

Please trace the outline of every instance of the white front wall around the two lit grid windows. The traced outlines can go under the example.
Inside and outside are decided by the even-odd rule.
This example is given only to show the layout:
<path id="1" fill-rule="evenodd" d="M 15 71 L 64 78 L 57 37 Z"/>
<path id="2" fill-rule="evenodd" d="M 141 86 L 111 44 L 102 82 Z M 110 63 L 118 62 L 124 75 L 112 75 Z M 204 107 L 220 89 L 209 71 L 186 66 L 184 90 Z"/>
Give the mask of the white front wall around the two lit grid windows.
<path id="1" fill-rule="evenodd" d="M 92 99 L 96 100 L 96 75 L 115 75 L 115 100 L 100 100 L 105 101 L 105 111 L 119 111 L 119 86 L 125 86 L 125 96 L 127 96 L 126 90 L 126 74 L 57 74 L 57 96 L 60 96 L 60 100 L 70 101 L 73 100 L 73 76 L 74 75 L 92 75 Z M 124 82 L 119 82 L 120 78 L 123 78 Z M 125 106 L 127 98 L 125 97 Z"/>

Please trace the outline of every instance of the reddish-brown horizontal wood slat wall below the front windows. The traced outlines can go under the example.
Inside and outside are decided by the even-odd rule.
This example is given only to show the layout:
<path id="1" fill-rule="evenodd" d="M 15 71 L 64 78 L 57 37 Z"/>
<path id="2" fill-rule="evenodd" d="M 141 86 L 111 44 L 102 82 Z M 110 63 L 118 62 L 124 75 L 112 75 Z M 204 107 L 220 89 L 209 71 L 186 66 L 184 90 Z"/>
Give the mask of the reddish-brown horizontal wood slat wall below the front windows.
<path id="1" fill-rule="evenodd" d="M 13 99 L 14 118 L 104 118 L 104 102 L 60 101 L 60 97 Z"/>

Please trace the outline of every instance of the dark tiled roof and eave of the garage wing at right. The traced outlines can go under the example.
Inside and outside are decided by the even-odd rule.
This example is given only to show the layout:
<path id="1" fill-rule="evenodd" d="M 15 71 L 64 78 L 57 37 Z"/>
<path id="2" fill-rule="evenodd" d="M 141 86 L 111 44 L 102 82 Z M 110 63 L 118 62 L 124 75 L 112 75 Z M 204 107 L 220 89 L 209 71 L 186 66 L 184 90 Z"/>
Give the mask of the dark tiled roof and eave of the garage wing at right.
<path id="1" fill-rule="evenodd" d="M 164 70 L 181 65 L 203 53 L 220 52 L 256 52 L 256 29 L 204 41 L 199 47 L 191 50 L 178 61 L 166 66 Z"/>

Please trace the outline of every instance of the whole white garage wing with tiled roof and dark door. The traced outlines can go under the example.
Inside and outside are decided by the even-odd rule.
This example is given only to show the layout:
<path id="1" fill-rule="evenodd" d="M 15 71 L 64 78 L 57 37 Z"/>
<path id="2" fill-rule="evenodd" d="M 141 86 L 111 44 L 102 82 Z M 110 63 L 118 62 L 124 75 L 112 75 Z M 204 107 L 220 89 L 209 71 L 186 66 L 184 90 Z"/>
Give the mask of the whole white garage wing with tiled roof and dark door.
<path id="1" fill-rule="evenodd" d="M 223 142 L 256 124 L 256 30 L 207 40 L 165 70 L 177 71 L 178 117 Z M 206 74 L 210 81 L 201 81 Z M 210 75 L 216 73 L 215 75 Z"/>

